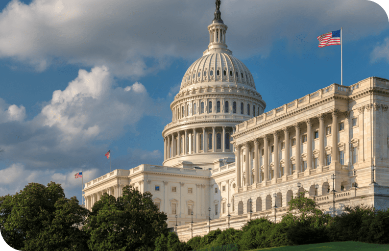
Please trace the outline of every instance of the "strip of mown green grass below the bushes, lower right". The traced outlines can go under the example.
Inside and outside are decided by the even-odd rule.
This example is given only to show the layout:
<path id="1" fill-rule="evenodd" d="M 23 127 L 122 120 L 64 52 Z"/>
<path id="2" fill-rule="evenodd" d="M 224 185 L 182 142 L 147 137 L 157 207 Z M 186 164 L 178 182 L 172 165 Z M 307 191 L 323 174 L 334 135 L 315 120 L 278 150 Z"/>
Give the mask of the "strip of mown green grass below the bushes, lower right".
<path id="1" fill-rule="evenodd" d="M 372 250 L 372 251 L 389 251 L 389 245 L 387 244 L 369 244 L 363 242 L 346 241 L 346 242 L 326 242 L 319 244 L 300 245 L 300 246 L 287 246 L 277 248 L 266 249 L 253 249 L 247 251 L 259 251 L 259 250 L 271 250 L 271 251 L 358 251 L 358 250 Z"/>

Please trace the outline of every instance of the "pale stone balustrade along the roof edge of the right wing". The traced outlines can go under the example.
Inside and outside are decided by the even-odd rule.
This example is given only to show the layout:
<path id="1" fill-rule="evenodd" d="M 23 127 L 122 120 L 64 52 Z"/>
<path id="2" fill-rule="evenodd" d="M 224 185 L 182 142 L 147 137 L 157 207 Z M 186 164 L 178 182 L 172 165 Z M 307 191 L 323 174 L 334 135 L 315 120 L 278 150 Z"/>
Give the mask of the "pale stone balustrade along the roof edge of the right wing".
<path id="1" fill-rule="evenodd" d="M 278 108 L 275 108 L 271 111 L 263 113 L 257 116 L 254 119 L 250 119 L 249 123 L 243 122 L 237 126 L 237 132 L 241 132 L 247 128 L 260 125 L 265 123 L 267 120 L 274 119 L 277 116 L 283 115 L 285 113 L 291 112 L 297 108 L 310 105 L 312 102 L 316 102 L 318 99 L 322 99 L 328 96 L 332 96 L 335 94 L 339 95 L 351 95 L 357 92 L 361 92 L 365 89 L 371 88 L 384 88 L 388 89 L 389 81 L 387 79 L 379 78 L 379 77 L 369 77 L 366 78 L 356 84 L 350 86 L 342 86 L 339 84 L 332 84 L 324 89 L 320 89 L 312 94 L 308 94 L 305 97 L 294 100 L 290 103 L 284 104 Z M 234 135 L 232 135 L 234 136 Z"/>

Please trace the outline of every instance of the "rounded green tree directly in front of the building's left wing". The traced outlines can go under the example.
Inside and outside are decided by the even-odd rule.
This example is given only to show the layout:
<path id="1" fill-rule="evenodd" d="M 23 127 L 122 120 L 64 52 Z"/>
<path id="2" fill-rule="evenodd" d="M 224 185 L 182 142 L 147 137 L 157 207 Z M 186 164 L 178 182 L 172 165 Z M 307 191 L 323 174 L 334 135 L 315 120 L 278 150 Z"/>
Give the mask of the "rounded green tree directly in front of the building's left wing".
<path id="1" fill-rule="evenodd" d="M 91 235 L 88 247 L 93 251 L 153 250 L 156 238 L 167 235 L 167 216 L 151 198 L 149 192 L 141 194 L 128 186 L 118 199 L 104 193 L 83 228 Z"/>

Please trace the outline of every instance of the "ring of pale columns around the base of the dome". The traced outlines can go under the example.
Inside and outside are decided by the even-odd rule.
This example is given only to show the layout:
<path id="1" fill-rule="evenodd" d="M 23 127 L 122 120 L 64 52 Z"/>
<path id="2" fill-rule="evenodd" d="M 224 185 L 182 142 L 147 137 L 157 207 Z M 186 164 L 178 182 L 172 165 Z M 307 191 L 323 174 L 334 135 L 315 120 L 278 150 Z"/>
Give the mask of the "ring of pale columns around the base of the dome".
<path id="1" fill-rule="evenodd" d="M 216 131 L 217 127 L 221 127 L 221 132 Z M 208 142 L 209 133 L 212 133 L 211 144 Z M 216 142 L 218 133 L 221 134 L 220 148 L 218 148 Z M 231 133 L 231 126 L 203 126 L 201 128 L 190 128 L 172 132 L 164 137 L 164 160 L 179 155 L 188 155 L 200 152 L 233 152 L 233 146 L 230 146 L 229 142 L 231 141 L 231 134 L 234 133 L 235 127 L 232 127 Z M 212 145 L 212 148 L 209 148 L 210 145 Z"/>

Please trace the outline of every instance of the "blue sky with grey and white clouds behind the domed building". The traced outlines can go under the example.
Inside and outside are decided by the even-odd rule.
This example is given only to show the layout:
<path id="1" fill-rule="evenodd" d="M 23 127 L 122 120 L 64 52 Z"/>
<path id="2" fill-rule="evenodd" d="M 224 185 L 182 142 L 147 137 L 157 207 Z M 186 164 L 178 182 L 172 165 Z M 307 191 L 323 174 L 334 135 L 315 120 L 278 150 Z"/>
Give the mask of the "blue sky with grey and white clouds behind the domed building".
<path id="1" fill-rule="evenodd" d="M 0 0 L 0 196 L 30 182 L 84 183 L 162 165 L 164 126 L 186 70 L 207 49 L 214 0 Z M 265 111 L 340 84 L 389 79 L 389 21 L 369 0 L 221 0 L 226 43 Z"/>

